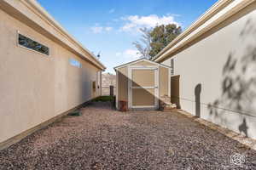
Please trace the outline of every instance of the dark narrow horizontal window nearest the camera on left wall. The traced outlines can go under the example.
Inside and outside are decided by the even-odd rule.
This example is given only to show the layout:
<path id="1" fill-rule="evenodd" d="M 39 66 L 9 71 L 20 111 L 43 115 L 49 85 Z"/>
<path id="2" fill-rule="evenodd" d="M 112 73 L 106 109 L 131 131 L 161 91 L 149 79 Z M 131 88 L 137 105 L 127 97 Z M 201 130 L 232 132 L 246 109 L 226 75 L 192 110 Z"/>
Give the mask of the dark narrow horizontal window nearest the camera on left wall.
<path id="1" fill-rule="evenodd" d="M 18 38 L 19 38 L 18 42 L 19 42 L 20 46 L 22 46 L 24 48 L 32 49 L 32 50 L 37 51 L 41 54 L 49 55 L 49 48 L 44 46 L 43 44 L 41 44 L 39 42 L 35 42 L 32 39 L 30 39 L 29 37 L 25 37 L 21 34 L 19 34 Z"/>

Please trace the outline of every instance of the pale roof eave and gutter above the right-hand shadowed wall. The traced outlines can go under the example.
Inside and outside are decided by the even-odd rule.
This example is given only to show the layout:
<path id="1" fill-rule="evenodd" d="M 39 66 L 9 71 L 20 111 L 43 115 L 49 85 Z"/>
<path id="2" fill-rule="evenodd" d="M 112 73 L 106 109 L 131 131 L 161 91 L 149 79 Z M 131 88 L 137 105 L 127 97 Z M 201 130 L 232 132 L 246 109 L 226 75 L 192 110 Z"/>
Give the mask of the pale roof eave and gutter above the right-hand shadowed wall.
<path id="1" fill-rule="evenodd" d="M 183 33 L 170 42 L 166 48 L 163 48 L 153 60 L 160 62 L 169 58 L 170 55 L 175 53 L 178 49 L 195 40 L 195 38 L 200 37 L 202 34 L 212 29 L 212 27 L 218 26 L 219 23 L 253 2 L 255 2 L 255 0 L 219 0 L 212 8 L 209 8 L 205 14 L 202 14 L 194 24 L 189 26 L 186 31 L 183 31 Z"/>

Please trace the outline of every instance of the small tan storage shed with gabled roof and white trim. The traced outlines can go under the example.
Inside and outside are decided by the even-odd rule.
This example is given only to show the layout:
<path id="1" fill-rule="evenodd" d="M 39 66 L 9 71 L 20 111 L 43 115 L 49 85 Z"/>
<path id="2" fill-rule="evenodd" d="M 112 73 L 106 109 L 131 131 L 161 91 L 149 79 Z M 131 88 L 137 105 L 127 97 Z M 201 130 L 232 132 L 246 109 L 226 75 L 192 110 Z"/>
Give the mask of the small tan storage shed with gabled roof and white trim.
<path id="1" fill-rule="evenodd" d="M 171 67 L 148 59 L 137 59 L 114 67 L 116 71 L 116 108 L 151 109 L 170 99 Z"/>

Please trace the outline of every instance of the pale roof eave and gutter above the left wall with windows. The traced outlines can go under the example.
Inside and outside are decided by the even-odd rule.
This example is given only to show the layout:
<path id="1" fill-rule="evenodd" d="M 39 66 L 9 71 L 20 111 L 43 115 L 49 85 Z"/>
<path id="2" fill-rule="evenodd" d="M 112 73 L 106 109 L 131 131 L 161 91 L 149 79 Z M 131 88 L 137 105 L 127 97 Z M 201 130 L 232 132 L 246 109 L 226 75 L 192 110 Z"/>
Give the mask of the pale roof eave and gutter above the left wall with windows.
<path id="1" fill-rule="evenodd" d="M 84 48 L 80 42 L 71 36 L 36 0 L 0 0 L 0 4 L 1 3 L 6 4 L 11 8 L 15 8 L 15 10 L 19 11 L 28 20 L 32 20 L 32 17 L 37 16 L 38 20 L 40 21 L 32 21 L 40 26 L 44 31 L 47 31 L 49 34 L 51 34 L 51 36 L 55 37 L 57 40 L 60 40 L 69 48 L 72 48 L 84 59 L 88 59 L 91 63 L 93 63 L 93 65 L 96 65 L 102 70 L 106 69 L 106 67 L 99 59 L 96 58 L 94 54 L 91 54 L 87 48 Z M 4 9 L 5 8 L 3 8 L 3 10 Z M 20 17 L 21 16 L 18 15 L 18 18 Z M 41 20 L 50 27 L 50 31 L 48 30 L 49 28 L 47 29 L 44 26 L 44 23 Z"/>

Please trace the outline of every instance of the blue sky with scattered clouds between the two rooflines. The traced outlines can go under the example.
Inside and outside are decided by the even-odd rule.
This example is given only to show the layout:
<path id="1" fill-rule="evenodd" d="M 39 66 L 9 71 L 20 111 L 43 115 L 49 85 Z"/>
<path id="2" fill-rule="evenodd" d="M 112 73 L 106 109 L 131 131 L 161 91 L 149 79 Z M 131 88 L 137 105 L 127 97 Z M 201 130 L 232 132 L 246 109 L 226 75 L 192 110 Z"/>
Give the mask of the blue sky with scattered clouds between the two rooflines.
<path id="1" fill-rule="evenodd" d="M 112 72 L 137 59 L 141 27 L 176 23 L 185 30 L 217 0 L 38 0 L 55 20 Z"/>

